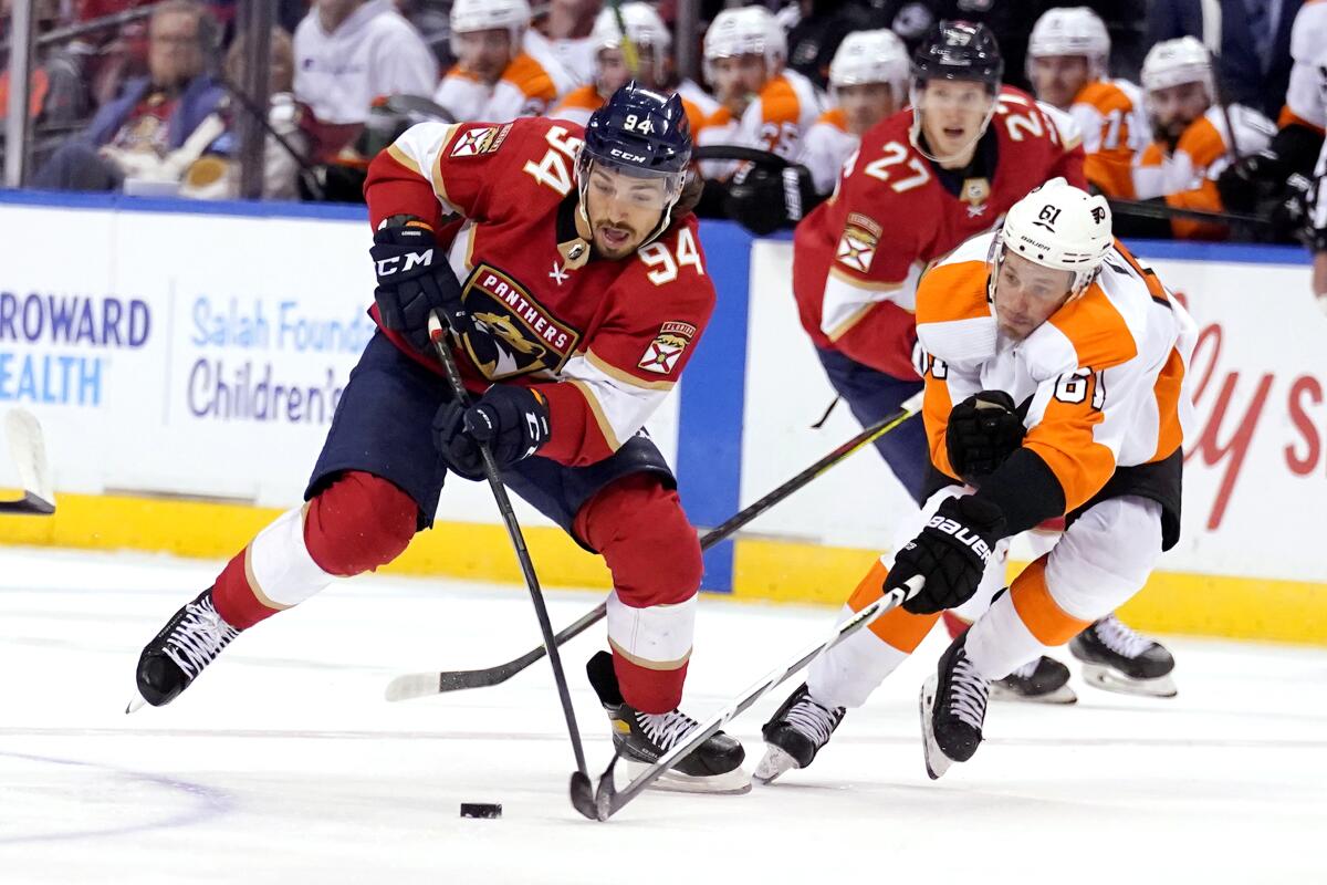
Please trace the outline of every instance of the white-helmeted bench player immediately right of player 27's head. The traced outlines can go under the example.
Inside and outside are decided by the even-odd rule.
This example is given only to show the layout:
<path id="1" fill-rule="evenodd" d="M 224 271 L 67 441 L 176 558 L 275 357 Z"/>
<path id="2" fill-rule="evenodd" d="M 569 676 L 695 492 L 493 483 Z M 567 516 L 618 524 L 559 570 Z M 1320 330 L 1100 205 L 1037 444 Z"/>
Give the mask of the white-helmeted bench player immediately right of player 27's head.
<path id="1" fill-rule="evenodd" d="M 1056 8 L 1032 27 L 1027 78 L 1036 100 L 1068 113 L 1083 135 L 1088 183 L 1133 199 L 1133 162 L 1152 141 L 1143 90 L 1108 76 L 1111 36 L 1087 7 Z"/>

